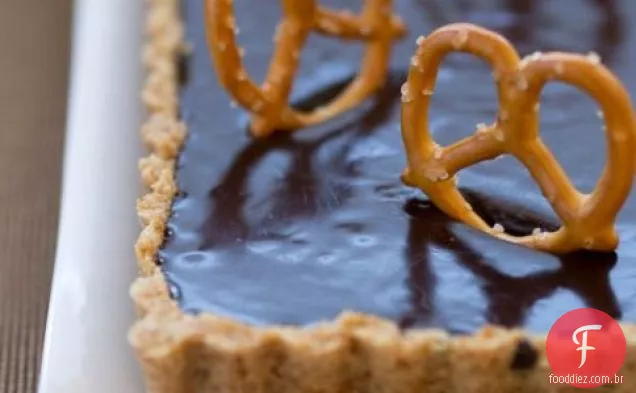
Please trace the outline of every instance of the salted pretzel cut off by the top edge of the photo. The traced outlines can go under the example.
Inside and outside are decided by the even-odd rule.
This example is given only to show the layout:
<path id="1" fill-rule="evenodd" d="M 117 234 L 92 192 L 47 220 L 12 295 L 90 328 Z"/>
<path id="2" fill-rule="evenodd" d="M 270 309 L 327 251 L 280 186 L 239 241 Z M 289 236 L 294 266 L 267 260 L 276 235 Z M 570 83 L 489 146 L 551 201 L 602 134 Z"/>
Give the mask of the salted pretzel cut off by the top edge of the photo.
<path id="1" fill-rule="evenodd" d="M 259 87 L 243 66 L 243 50 L 236 42 L 233 0 L 206 0 L 207 41 L 217 74 L 233 99 L 254 114 L 252 134 L 262 137 L 275 130 L 292 131 L 325 122 L 379 89 L 386 79 L 392 43 L 406 32 L 404 24 L 391 13 L 392 1 L 366 0 L 358 16 L 323 9 L 317 0 L 281 0 L 284 17 L 274 38 L 276 48 L 265 82 Z M 311 31 L 367 41 L 367 49 L 360 73 L 338 97 L 311 112 L 300 112 L 287 101 L 300 51 Z"/>

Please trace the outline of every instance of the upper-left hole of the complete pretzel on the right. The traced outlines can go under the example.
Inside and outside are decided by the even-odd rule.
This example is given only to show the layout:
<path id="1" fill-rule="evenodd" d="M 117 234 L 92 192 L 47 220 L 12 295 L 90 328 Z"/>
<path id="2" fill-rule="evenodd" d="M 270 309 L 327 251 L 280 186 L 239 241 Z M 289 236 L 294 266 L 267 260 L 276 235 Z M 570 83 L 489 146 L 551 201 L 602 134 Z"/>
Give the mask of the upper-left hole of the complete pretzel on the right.
<path id="1" fill-rule="evenodd" d="M 451 53 L 441 64 L 429 108 L 429 131 L 442 146 L 475 133 L 497 118 L 492 69 L 475 56 Z"/>

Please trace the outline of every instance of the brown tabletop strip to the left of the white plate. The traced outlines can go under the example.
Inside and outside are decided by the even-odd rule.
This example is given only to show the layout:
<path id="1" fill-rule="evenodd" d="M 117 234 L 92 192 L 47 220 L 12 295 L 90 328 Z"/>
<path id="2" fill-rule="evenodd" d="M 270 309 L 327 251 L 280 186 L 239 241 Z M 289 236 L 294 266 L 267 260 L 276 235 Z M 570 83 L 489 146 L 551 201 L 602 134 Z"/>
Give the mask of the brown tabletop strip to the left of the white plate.
<path id="1" fill-rule="evenodd" d="M 70 0 L 0 1 L 0 392 L 34 392 L 57 230 Z"/>

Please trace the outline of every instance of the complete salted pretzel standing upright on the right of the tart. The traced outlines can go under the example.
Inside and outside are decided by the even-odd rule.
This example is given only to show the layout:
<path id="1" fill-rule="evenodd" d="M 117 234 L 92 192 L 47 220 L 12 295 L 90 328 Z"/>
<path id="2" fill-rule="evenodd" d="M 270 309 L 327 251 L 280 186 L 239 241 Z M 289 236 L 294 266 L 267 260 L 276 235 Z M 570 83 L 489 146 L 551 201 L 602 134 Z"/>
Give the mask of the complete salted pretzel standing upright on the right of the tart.
<path id="1" fill-rule="evenodd" d="M 442 211 L 497 238 L 556 254 L 577 249 L 611 251 L 618 246 L 614 221 L 631 190 L 636 170 L 636 118 L 630 97 L 598 55 L 535 53 L 520 59 L 503 37 L 470 24 L 442 27 L 418 39 L 408 80 L 402 87 L 402 138 L 408 166 L 405 184 L 418 187 Z M 440 147 L 428 129 L 428 108 L 442 59 L 468 52 L 490 63 L 499 96 L 496 121 Z M 594 98 L 602 108 L 608 158 L 595 189 L 580 193 L 539 136 L 539 99 L 543 86 L 559 80 Z M 527 236 L 490 227 L 457 188 L 455 174 L 483 160 L 510 154 L 529 170 L 561 218 L 555 232 L 535 229 Z"/>

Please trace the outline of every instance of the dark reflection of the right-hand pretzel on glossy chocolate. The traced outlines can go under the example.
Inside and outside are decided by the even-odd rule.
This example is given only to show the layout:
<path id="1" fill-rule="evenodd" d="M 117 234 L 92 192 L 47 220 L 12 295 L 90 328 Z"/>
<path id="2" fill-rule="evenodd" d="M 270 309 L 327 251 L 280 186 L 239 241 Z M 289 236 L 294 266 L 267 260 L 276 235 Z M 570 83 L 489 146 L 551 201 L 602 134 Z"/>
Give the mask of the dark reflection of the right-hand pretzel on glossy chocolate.
<path id="1" fill-rule="evenodd" d="M 476 199 L 476 197 L 472 197 L 471 201 Z M 519 209 L 506 206 L 505 203 L 500 203 L 494 198 L 488 199 L 487 202 L 482 199 L 480 202 L 482 204 L 487 203 L 489 208 L 497 206 L 498 212 L 507 216 L 505 221 L 499 222 L 505 222 L 508 227 L 512 227 L 514 224 L 517 224 L 518 227 L 524 225 L 523 221 L 518 221 L 514 217 L 514 212 L 519 211 Z M 609 272 L 616 264 L 615 253 L 572 253 L 560 257 L 560 266 L 557 270 L 539 271 L 513 277 L 493 268 L 486 262 L 487 258 L 479 250 L 470 247 L 462 240 L 454 239 L 449 243 L 449 239 L 453 239 L 453 232 L 450 229 L 451 222 L 443 213 L 429 205 L 428 202 L 410 200 L 407 202 L 405 210 L 413 217 L 422 218 L 420 220 L 412 220 L 414 225 L 411 227 L 413 229 L 411 235 L 414 238 L 409 244 L 413 245 L 417 251 L 410 255 L 429 255 L 423 250 L 427 244 L 434 244 L 442 249 L 452 251 L 463 267 L 470 270 L 475 277 L 483 280 L 482 288 L 489 299 L 489 305 L 486 310 L 489 322 L 503 326 L 523 325 L 526 310 L 530 309 L 537 301 L 550 297 L 559 288 L 566 288 L 576 294 L 588 307 L 601 309 L 616 318 L 621 317 L 621 311 L 609 283 Z M 483 210 L 479 211 L 479 213 L 484 217 L 489 217 Z M 416 223 L 425 222 L 425 220 L 430 221 L 431 219 L 435 222 L 436 231 L 432 235 L 425 237 L 425 241 L 422 241 L 421 237 L 418 239 Z M 533 222 L 536 224 L 542 221 L 537 219 L 530 220 L 528 223 Z M 427 229 L 424 230 L 426 231 Z M 419 229 L 419 231 L 421 232 L 422 229 Z M 522 233 L 527 232 L 524 231 Z M 421 236 L 421 233 L 419 235 Z M 422 257 L 411 259 L 411 261 L 418 260 L 420 261 L 419 265 L 427 265 L 429 263 L 422 263 Z M 417 265 L 412 264 L 411 266 Z M 420 276 L 427 275 L 422 270 L 423 268 L 420 266 L 419 271 L 414 270 L 411 273 L 411 279 L 414 279 L 412 283 L 414 293 L 418 293 L 417 288 L 431 288 L 430 282 L 418 282 Z M 419 297 L 414 298 L 414 300 L 413 309 L 417 309 L 417 305 L 425 301 L 425 299 Z M 404 326 L 412 324 L 412 319 L 402 321 Z"/>

